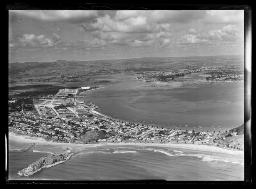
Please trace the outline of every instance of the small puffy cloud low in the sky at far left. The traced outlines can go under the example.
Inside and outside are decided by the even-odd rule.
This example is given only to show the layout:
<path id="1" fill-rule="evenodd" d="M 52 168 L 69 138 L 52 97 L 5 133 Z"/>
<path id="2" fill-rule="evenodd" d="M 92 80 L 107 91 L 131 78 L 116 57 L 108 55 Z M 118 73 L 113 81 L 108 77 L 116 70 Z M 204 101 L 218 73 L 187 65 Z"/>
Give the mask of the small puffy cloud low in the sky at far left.
<path id="1" fill-rule="evenodd" d="M 52 39 L 46 38 L 44 35 L 34 35 L 34 34 L 23 34 L 22 37 L 17 38 L 17 42 L 20 46 L 29 47 L 52 47 L 55 46 L 61 37 L 55 33 L 52 33 Z"/>

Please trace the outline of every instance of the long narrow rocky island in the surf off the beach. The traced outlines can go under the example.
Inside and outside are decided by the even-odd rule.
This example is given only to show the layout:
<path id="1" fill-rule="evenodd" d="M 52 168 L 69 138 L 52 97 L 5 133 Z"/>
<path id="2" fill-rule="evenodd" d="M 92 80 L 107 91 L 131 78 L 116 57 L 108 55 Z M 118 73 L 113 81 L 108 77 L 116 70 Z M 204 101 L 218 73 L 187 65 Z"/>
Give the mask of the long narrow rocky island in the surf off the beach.
<path id="1" fill-rule="evenodd" d="M 35 172 L 40 171 L 43 168 L 46 167 L 52 167 L 57 164 L 61 164 L 66 162 L 71 158 L 71 156 L 74 154 L 74 152 L 67 148 L 65 153 L 56 153 L 51 156 L 46 156 L 44 158 L 40 158 L 34 163 L 30 164 L 27 168 L 22 169 L 18 172 L 19 176 L 30 176 L 34 174 Z"/>

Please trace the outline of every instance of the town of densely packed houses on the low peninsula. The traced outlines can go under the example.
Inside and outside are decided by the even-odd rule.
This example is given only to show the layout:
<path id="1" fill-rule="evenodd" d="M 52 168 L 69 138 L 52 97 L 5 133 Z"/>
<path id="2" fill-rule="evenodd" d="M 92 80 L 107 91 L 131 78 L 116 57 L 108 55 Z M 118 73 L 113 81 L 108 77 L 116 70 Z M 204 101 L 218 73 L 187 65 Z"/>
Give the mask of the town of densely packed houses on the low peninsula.
<path id="1" fill-rule="evenodd" d="M 242 150 L 239 143 L 222 142 L 237 132 L 197 132 L 136 123 L 100 114 L 92 102 L 77 96 L 93 87 L 61 89 L 57 94 L 37 99 L 9 99 L 9 131 L 59 143 L 187 143 L 215 145 Z M 221 141 L 221 142 L 220 142 Z"/>

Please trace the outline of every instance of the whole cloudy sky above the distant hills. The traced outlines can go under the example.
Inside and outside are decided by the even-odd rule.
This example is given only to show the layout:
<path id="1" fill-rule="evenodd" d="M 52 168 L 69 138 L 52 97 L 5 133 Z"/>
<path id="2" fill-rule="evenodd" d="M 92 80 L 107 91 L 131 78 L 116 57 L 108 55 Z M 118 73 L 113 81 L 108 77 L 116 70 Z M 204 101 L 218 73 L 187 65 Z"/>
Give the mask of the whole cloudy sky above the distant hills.
<path id="1" fill-rule="evenodd" d="M 9 63 L 240 55 L 243 10 L 9 10 Z"/>

